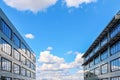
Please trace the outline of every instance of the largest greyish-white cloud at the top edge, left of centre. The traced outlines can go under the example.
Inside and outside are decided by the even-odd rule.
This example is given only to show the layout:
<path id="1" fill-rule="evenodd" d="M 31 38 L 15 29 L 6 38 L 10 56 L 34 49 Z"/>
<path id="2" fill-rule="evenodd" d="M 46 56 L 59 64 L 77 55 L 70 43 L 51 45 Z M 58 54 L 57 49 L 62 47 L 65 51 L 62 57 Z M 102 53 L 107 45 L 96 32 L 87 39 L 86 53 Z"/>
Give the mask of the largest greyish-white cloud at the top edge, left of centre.
<path id="1" fill-rule="evenodd" d="M 43 11 L 55 5 L 57 0 L 3 0 L 8 6 L 21 11 L 32 11 L 34 13 Z"/>

